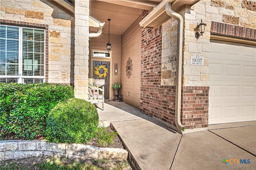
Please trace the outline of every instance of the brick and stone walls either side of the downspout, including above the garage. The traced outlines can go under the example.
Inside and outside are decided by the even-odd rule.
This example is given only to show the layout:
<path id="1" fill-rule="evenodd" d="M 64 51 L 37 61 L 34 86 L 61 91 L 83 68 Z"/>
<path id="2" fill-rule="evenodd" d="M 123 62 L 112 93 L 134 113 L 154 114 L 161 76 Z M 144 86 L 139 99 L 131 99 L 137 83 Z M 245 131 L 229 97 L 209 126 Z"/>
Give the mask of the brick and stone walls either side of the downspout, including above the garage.
<path id="1" fill-rule="evenodd" d="M 180 12 L 184 18 L 181 122 L 186 129 L 208 127 L 211 34 L 255 40 L 255 4 L 249 0 L 205 0 L 196 3 L 193 9 L 186 7 Z M 142 14 L 146 16 L 147 12 Z M 196 39 L 194 29 L 201 19 L 207 25 L 204 34 Z M 175 125 L 176 32 L 175 21 L 168 22 L 163 28 L 158 27 L 163 30 L 162 37 L 157 29 L 142 29 L 140 104 L 142 112 Z M 190 64 L 195 54 L 204 57 L 204 65 Z"/>

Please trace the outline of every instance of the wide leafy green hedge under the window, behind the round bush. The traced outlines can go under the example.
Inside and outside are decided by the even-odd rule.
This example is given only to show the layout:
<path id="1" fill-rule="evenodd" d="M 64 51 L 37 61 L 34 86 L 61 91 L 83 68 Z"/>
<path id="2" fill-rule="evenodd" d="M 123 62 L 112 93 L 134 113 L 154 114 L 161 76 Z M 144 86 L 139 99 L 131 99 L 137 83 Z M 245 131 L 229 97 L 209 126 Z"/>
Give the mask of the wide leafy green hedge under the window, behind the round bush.
<path id="1" fill-rule="evenodd" d="M 0 139 L 44 136 L 46 117 L 58 102 L 74 97 L 72 86 L 0 84 Z"/>

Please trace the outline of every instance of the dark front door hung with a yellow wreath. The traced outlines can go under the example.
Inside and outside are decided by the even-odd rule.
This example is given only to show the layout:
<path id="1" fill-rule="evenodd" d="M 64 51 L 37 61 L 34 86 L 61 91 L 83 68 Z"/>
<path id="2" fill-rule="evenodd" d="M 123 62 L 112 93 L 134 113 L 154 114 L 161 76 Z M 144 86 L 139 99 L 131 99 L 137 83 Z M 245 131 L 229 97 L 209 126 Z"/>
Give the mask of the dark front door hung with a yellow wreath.
<path id="1" fill-rule="evenodd" d="M 106 75 L 106 77 L 104 78 L 104 76 L 102 76 L 101 78 L 99 78 L 98 75 L 94 74 L 94 67 L 99 67 L 100 65 L 105 66 L 106 68 L 108 68 L 108 73 Z M 100 74 L 104 73 L 104 69 L 100 68 L 99 69 Z M 109 99 L 109 74 L 110 74 L 110 62 L 105 62 L 105 61 L 93 61 L 93 85 L 99 85 L 99 88 L 102 88 L 102 86 L 104 86 L 104 98 L 105 99 Z"/>

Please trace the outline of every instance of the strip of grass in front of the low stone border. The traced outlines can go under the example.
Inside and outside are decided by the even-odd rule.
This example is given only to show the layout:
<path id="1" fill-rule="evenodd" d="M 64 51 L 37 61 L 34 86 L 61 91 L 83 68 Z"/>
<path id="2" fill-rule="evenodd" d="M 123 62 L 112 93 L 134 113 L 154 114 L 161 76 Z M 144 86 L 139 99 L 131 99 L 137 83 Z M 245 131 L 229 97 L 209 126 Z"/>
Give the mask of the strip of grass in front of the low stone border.
<path id="1" fill-rule="evenodd" d="M 128 161 L 36 157 L 1 161 L 1 170 L 132 170 Z"/>

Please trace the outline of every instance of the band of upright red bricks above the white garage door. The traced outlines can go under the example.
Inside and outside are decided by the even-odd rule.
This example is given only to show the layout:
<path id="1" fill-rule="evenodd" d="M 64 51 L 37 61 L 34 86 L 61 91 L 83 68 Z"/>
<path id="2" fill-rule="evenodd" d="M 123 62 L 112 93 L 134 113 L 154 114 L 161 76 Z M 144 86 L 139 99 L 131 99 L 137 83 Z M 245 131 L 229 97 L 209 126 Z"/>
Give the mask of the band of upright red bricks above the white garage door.
<path id="1" fill-rule="evenodd" d="M 214 22 L 211 25 L 211 34 L 224 35 L 228 37 L 256 40 L 256 29 L 240 27 L 226 23 Z"/>

